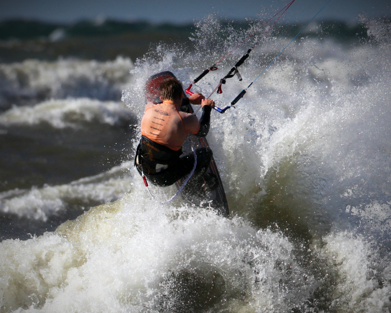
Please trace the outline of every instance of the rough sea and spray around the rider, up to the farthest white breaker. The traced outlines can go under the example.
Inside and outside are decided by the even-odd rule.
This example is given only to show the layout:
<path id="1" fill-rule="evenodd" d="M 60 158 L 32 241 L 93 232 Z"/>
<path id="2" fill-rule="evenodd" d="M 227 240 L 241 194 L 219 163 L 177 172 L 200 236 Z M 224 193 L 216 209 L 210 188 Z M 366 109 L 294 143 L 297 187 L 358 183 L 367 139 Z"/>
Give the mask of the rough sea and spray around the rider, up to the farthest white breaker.
<path id="1" fill-rule="evenodd" d="M 133 157 L 146 79 L 187 87 L 248 28 L 209 16 L 192 45 L 136 60 L 0 64 L 0 312 L 390 312 L 390 23 L 362 23 L 345 37 L 312 23 L 212 112 L 228 219 L 154 201 Z M 208 95 L 260 36 L 192 90 Z M 290 40 L 268 32 L 216 105 Z"/>

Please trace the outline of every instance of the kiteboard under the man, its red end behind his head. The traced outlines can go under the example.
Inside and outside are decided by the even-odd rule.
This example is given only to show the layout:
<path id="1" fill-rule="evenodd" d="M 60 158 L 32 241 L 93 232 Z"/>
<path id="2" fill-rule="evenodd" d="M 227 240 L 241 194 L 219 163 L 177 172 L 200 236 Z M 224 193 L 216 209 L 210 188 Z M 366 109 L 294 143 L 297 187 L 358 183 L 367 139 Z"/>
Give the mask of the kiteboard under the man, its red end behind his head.
<path id="1" fill-rule="evenodd" d="M 175 75 L 170 71 L 164 71 L 161 73 L 157 73 L 155 75 L 152 75 L 146 82 L 145 85 L 145 95 L 147 98 L 147 102 L 155 101 L 156 103 L 161 103 L 162 100 L 160 99 L 160 90 L 159 86 L 162 83 L 162 81 L 169 77 L 175 77 Z M 184 97 L 186 97 L 186 93 L 184 92 Z M 183 104 L 181 107 L 181 110 L 187 113 L 194 113 L 192 105 L 187 101 L 187 103 Z M 200 147 L 209 148 L 209 144 L 205 137 L 198 137 L 193 134 L 189 134 L 188 138 L 184 142 L 182 146 L 182 151 L 185 154 L 193 153 L 192 152 L 192 144 L 197 149 Z M 183 192 L 182 197 L 185 200 L 191 201 L 192 203 L 198 203 L 200 206 L 206 207 L 206 208 L 212 208 L 217 211 L 217 213 L 221 216 L 228 217 L 229 215 L 229 209 L 228 209 L 228 202 L 225 196 L 224 188 L 221 182 L 220 175 L 217 170 L 216 163 L 214 161 L 214 158 L 210 161 L 209 168 L 207 169 L 206 173 L 214 175 L 214 177 L 218 181 L 217 187 L 214 186 L 211 190 L 205 190 L 205 188 L 196 188 L 190 189 L 192 190 L 189 192 Z M 186 179 L 186 177 L 182 180 L 179 180 L 175 185 L 177 188 L 180 188 L 183 185 L 183 181 Z M 191 186 L 190 186 L 191 187 Z M 189 188 L 188 188 L 189 189 Z"/>

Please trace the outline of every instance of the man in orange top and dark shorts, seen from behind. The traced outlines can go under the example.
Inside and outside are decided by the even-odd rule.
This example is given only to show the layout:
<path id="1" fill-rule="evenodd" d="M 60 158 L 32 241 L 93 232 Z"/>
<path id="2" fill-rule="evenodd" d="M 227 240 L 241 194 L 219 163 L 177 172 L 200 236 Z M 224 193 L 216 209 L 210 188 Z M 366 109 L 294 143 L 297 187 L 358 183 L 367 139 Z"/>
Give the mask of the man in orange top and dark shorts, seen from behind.
<path id="1" fill-rule="evenodd" d="M 149 102 L 145 107 L 135 165 L 140 175 L 144 173 L 154 185 L 170 186 L 192 172 L 194 154 L 182 155 L 182 145 L 189 134 L 199 137 L 207 135 L 214 101 L 205 99 L 200 93 L 184 97 L 182 83 L 175 77 L 165 79 L 160 85 L 160 92 L 163 102 Z M 186 101 L 202 106 L 199 120 L 196 115 L 181 111 Z M 206 181 L 210 188 L 217 184 L 215 177 L 204 174 L 212 155 L 209 148 L 196 149 L 196 170 L 191 179 L 193 184 Z"/>

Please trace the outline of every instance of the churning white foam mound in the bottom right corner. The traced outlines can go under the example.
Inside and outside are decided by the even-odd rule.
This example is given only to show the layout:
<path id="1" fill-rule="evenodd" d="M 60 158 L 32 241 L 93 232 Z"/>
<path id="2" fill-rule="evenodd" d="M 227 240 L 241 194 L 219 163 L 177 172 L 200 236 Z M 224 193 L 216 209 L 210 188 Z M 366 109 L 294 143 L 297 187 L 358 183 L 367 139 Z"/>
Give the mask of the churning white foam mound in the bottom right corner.
<path id="1" fill-rule="evenodd" d="M 379 278 L 389 280 L 390 269 L 379 264 L 379 256 L 368 241 L 348 231 L 331 233 L 324 240 L 321 255 L 334 266 L 339 282 L 333 290 L 330 310 L 389 312 L 391 286 L 379 285 Z"/>

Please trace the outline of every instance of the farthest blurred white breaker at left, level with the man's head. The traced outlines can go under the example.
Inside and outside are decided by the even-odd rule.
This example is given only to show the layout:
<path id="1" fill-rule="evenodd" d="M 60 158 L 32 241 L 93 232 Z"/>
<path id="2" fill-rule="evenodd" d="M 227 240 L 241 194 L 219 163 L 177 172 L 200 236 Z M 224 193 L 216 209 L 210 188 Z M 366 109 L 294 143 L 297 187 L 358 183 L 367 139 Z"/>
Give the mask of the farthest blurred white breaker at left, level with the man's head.
<path id="1" fill-rule="evenodd" d="M 59 59 L 0 64 L 0 110 L 51 98 L 119 101 L 132 82 L 132 68 L 132 60 L 121 56 L 106 62 Z"/>

